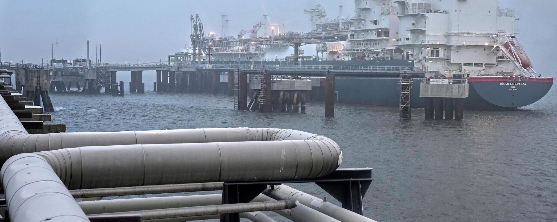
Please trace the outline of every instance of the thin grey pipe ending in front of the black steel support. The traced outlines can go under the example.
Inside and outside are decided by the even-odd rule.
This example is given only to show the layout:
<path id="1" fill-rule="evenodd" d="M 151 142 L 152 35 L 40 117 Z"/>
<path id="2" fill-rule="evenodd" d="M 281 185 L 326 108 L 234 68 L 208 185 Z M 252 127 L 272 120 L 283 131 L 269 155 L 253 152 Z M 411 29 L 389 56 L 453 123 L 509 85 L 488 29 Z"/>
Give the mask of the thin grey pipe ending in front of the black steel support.
<path id="1" fill-rule="evenodd" d="M 189 208 L 139 210 L 139 211 L 94 214 L 94 215 L 139 214 L 141 215 L 141 220 L 155 220 L 155 219 L 165 219 L 165 218 L 182 218 L 187 216 L 243 213 L 243 212 L 251 212 L 251 211 L 261 211 L 261 210 L 284 210 L 284 209 L 295 208 L 297 204 L 298 201 L 292 199 L 292 200 L 263 201 L 257 203 L 192 206 Z"/>

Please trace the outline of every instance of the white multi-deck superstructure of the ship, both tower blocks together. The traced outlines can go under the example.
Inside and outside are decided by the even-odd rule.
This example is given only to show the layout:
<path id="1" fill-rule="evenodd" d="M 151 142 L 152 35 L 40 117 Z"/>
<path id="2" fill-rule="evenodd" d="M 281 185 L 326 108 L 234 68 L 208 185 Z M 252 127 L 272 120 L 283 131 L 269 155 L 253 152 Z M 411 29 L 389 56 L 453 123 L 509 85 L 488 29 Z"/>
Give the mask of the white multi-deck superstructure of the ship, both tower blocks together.
<path id="1" fill-rule="evenodd" d="M 358 60 L 414 60 L 428 76 L 532 76 L 515 9 L 496 0 L 355 0 L 341 51 Z"/>

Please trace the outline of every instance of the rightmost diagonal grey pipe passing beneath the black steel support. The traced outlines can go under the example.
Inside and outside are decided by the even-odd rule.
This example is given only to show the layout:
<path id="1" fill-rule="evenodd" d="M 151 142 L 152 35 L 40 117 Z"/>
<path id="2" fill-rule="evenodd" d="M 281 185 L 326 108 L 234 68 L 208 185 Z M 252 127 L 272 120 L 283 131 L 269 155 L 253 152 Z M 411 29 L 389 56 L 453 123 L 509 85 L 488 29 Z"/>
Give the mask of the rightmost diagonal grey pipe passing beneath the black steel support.
<path id="1" fill-rule="evenodd" d="M 290 196 L 299 200 L 301 204 L 309 206 L 311 209 L 317 210 L 325 215 L 329 215 L 342 222 L 377 222 L 375 220 L 366 218 L 365 216 L 356 214 L 350 210 L 341 208 L 340 206 L 323 201 L 315 196 L 306 194 L 300 190 L 291 188 L 290 186 L 280 185 L 275 186 L 276 192 Z"/>

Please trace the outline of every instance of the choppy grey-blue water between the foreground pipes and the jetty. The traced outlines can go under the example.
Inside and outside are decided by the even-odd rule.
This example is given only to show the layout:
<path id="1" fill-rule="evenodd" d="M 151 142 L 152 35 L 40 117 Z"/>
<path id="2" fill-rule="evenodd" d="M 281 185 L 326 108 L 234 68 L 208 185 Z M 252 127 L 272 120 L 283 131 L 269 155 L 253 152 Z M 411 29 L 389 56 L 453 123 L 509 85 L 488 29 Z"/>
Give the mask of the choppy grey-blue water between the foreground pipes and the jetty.
<path id="1" fill-rule="evenodd" d="M 517 111 L 465 111 L 465 120 L 399 120 L 395 107 L 323 103 L 307 114 L 234 111 L 205 94 L 51 94 L 67 131 L 278 127 L 321 134 L 341 146 L 341 167 L 372 167 L 365 216 L 377 221 L 556 221 L 557 90 Z M 293 185 L 329 196 L 312 184 Z"/>

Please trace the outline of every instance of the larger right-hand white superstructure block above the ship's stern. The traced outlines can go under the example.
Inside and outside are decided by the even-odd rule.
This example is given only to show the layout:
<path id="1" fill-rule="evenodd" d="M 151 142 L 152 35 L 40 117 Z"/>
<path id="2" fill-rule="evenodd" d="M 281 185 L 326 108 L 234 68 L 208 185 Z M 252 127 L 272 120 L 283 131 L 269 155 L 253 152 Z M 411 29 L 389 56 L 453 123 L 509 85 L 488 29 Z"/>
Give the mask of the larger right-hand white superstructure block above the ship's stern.
<path id="1" fill-rule="evenodd" d="M 429 75 L 491 76 L 517 72 L 517 67 L 497 47 L 516 34 L 514 9 L 500 9 L 495 0 L 394 3 L 399 8 L 398 47 L 403 58 L 416 61 L 416 66 L 427 66 Z"/>

